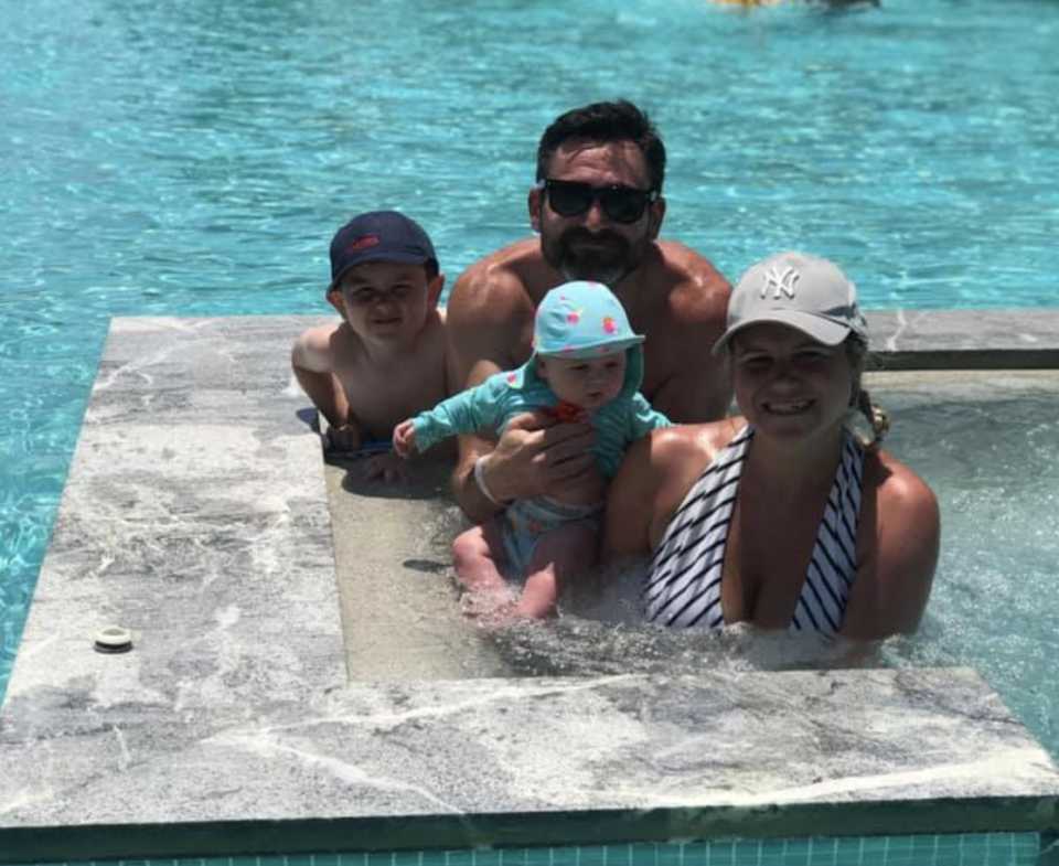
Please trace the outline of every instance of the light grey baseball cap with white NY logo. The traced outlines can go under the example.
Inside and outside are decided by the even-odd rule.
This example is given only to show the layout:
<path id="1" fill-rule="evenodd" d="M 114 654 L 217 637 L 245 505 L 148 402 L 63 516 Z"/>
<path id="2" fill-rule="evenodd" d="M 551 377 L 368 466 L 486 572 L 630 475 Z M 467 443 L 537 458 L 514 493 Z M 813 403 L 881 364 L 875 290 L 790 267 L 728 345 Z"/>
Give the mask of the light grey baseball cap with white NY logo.
<path id="1" fill-rule="evenodd" d="M 868 339 L 857 287 L 833 263 L 805 253 L 777 253 L 750 266 L 731 290 L 728 330 L 713 353 L 744 328 L 762 322 L 796 328 L 824 345 L 838 345 L 851 332 Z"/>

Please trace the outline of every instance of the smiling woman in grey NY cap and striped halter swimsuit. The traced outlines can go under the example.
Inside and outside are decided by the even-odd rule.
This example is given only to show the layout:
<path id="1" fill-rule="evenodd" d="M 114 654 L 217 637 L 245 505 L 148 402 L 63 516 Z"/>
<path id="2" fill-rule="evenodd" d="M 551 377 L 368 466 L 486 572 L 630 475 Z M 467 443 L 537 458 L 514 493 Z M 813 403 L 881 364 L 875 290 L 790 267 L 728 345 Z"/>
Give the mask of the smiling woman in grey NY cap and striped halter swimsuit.
<path id="1" fill-rule="evenodd" d="M 867 327 L 832 263 L 781 253 L 732 290 L 726 351 L 742 417 L 633 446 L 607 504 L 603 559 L 652 553 L 648 619 L 750 621 L 874 640 L 919 626 L 938 560 L 938 502 L 878 449 L 860 386 Z M 848 429 L 855 410 L 874 437 Z"/>

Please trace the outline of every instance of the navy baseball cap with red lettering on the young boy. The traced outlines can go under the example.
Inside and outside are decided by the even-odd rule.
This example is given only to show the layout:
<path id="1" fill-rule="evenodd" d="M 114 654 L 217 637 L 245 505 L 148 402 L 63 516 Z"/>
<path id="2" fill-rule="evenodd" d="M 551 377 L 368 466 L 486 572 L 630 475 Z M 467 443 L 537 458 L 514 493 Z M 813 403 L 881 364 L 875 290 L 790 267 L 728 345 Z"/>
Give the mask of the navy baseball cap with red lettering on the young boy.
<path id="1" fill-rule="evenodd" d="M 372 211 L 354 216 L 331 240 L 331 285 L 339 285 L 350 268 L 365 261 L 438 266 L 434 244 L 414 220 L 396 211 Z"/>

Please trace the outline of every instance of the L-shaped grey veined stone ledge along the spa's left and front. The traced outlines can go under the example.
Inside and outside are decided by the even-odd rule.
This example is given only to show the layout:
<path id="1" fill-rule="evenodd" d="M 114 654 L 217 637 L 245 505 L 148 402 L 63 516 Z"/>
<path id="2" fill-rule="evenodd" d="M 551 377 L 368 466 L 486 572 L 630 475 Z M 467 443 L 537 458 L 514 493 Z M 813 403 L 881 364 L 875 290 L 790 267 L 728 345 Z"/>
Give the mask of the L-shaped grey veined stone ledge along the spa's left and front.
<path id="1" fill-rule="evenodd" d="M 972 671 L 352 682 L 287 361 L 313 321 L 114 321 L 0 712 L 0 860 L 1059 828 Z"/>

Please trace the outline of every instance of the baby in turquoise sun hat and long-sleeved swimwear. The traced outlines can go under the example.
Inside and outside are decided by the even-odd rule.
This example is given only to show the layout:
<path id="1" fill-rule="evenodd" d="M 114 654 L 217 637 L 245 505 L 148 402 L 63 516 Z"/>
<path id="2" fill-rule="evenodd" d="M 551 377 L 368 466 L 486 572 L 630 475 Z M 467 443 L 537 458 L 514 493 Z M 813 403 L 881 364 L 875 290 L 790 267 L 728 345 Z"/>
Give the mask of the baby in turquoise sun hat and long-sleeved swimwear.
<path id="1" fill-rule="evenodd" d="M 502 434 L 513 416 L 532 409 L 544 409 L 559 421 L 588 419 L 599 431 L 593 472 L 554 496 L 504 503 L 502 515 L 453 542 L 457 576 L 489 624 L 503 624 L 511 616 L 552 616 L 564 585 L 595 564 L 603 499 L 625 447 L 670 424 L 638 392 L 642 342 L 610 289 L 599 282 L 567 282 L 549 291 L 537 308 L 534 352 L 526 364 L 498 373 L 394 430 L 394 448 L 402 456 L 484 427 Z M 483 481 L 479 475 L 479 483 Z M 514 601 L 501 574 L 504 563 L 525 575 Z"/>

